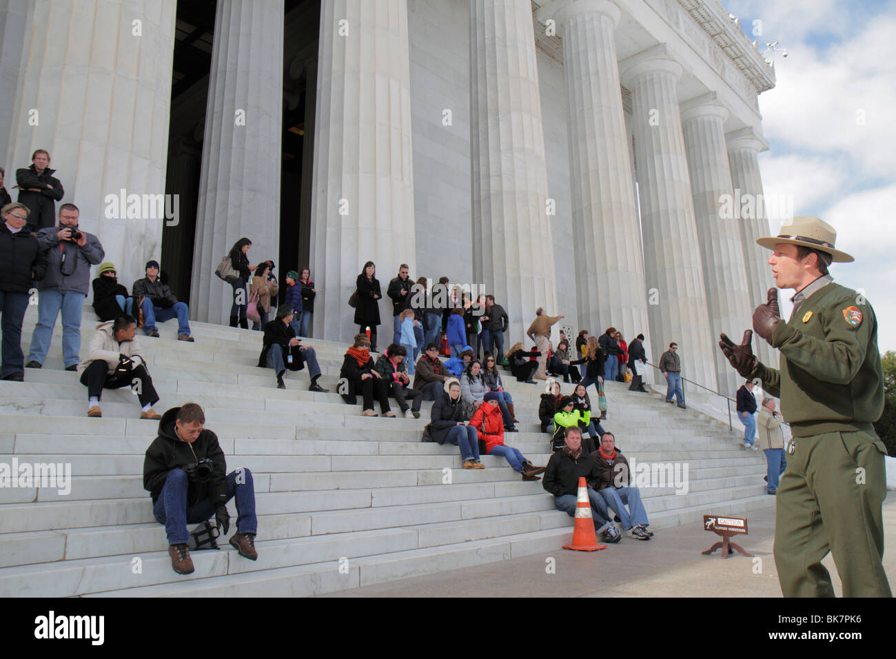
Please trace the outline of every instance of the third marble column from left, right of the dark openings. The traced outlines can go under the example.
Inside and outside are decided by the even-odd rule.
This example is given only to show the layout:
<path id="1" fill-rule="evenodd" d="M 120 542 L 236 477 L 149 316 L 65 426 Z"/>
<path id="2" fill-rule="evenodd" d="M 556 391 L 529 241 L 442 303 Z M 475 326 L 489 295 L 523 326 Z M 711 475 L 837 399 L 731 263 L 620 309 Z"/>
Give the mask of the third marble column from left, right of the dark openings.
<path id="1" fill-rule="evenodd" d="M 407 0 L 324 0 L 318 51 L 311 272 L 314 336 L 349 341 L 366 261 L 383 288 L 415 266 Z M 380 300 L 381 347 L 392 308 Z"/>

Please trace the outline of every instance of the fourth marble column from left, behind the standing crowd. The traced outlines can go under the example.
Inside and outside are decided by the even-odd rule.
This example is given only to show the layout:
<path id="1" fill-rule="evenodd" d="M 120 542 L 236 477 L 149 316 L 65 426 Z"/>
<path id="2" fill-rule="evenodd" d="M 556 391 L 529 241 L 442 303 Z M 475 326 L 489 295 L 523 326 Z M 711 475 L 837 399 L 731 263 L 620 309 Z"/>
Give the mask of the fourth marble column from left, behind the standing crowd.
<path id="1" fill-rule="evenodd" d="M 494 292 L 523 336 L 556 308 L 554 244 L 530 5 L 470 0 L 473 282 Z"/>

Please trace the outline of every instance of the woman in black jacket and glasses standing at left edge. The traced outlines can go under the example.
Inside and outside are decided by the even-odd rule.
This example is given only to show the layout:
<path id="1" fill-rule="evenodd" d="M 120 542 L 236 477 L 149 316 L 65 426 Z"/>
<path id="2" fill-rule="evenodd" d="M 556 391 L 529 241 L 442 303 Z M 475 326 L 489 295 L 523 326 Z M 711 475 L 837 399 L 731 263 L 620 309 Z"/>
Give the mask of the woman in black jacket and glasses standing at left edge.
<path id="1" fill-rule="evenodd" d="M 3 362 L 0 377 L 24 380 L 22 320 L 28 308 L 31 281 L 44 278 L 47 256 L 25 224 L 28 207 L 6 204 L 0 223 L 0 314 L 3 315 Z M 36 301 L 36 300 L 35 300 Z"/>

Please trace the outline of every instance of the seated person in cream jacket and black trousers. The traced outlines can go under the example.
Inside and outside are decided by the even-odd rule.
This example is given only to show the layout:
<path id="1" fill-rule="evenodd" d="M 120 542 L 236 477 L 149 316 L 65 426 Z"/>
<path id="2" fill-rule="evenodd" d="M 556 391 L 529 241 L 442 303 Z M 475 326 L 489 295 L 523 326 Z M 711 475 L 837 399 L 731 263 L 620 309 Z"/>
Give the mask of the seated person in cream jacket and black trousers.
<path id="1" fill-rule="evenodd" d="M 103 389 L 120 389 L 130 386 L 142 405 L 141 419 L 160 419 L 152 406 L 159 402 L 159 395 L 152 386 L 146 358 L 137 343 L 137 321 L 134 316 L 118 316 L 108 323 L 97 325 L 90 339 L 87 359 L 78 365 L 81 384 L 87 386 L 87 416 L 101 417 L 99 397 Z"/>

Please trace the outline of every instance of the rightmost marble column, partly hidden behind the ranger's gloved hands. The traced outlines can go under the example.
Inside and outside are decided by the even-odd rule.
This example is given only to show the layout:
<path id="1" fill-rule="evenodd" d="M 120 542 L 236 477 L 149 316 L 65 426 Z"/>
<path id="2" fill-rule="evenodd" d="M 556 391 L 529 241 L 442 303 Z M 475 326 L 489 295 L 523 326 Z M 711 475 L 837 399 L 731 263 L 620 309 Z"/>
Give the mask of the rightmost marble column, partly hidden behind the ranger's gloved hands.
<path id="1" fill-rule="evenodd" d="M 735 192 L 737 224 L 740 228 L 741 244 L 744 249 L 746 278 L 749 283 L 750 313 L 763 304 L 768 290 L 775 285 L 771 277 L 769 256 L 771 251 L 756 244 L 756 238 L 769 236 L 769 221 L 765 213 L 762 177 L 759 172 L 759 154 L 768 151 L 769 143 L 752 127 L 725 135 L 728 144 L 728 163 L 731 167 L 731 182 Z M 748 204 L 745 204 L 748 201 Z M 745 212 L 744 212 L 745 211 Z M 744 216 L 746 215 L 746 216 Z M 751 325 L 753 326 L 752 322 Z M 737 336 L 739 341 L 740 334 Z M 732 337 L 734 338 L 734 337 Z M 766 364 L 778 364 L 779 352 L 771 345 L 756 337 L 753 345 L 760 360 Z"/>

